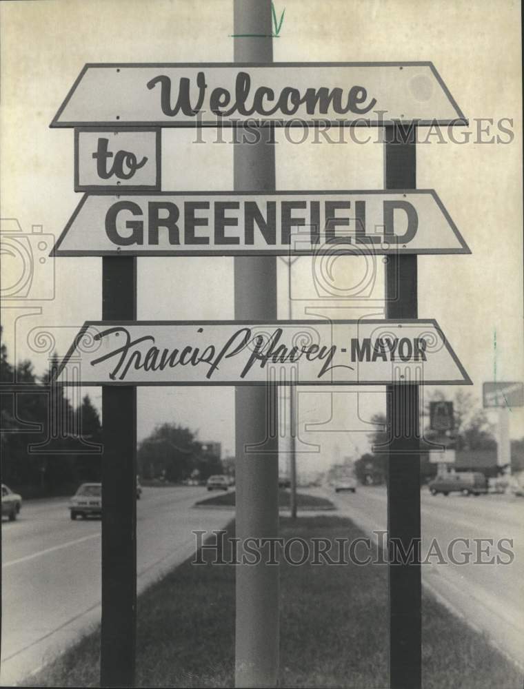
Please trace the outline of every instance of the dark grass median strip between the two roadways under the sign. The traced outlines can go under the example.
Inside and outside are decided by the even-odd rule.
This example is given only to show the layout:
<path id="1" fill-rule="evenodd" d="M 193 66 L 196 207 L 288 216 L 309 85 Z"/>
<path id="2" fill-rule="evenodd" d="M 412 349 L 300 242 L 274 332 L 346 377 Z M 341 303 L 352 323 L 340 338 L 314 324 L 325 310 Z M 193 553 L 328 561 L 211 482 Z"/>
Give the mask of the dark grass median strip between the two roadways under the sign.
<path id="1" fill-rule="evenodd" d="M 281 518 L 284 539 L 362 535 L 335 515 Z M 137 686 L 234 685 L 235 567 L 191 559 L 139 597 Z M 387 687 L 386 576 L 379 565 L 281 564 L 279 686 Z M 99 644 L 96 630 L 24 686 L 99 686 Z M 485 637 L 424 595 L 424 689 L 520 689 L 522 681 Z"/>

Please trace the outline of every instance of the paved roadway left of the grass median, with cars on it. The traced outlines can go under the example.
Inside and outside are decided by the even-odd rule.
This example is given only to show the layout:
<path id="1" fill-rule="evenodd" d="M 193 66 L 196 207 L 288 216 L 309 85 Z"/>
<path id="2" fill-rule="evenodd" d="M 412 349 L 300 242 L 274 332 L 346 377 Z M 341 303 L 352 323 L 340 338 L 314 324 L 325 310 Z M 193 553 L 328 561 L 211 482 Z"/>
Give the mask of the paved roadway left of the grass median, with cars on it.
<path id="1" fill-rule="evenodd" d="M 144 488 L 137 502 L 138 590 L 194 551 L 193 529 L 231 513 L 192 509 L 202 488 Z M 100 621 L 101 522 L 69 518 L 67 500 L 22 506 L 2 522 L 0 683 L 15 683 Z"/>

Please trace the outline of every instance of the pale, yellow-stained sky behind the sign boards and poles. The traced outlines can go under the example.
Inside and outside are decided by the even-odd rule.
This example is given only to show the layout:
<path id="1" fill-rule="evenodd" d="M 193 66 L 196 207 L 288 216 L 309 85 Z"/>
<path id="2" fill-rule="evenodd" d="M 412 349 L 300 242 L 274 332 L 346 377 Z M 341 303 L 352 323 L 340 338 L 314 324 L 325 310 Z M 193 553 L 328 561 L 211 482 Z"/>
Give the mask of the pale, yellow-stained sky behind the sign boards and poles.
<path id="1" fill-rule="evenodd" d="M 285 19 L 274 39 L 274 61 L 429 60 L 470 119 L 469 141 L 452 143 L 444 132 L 445 141 L 432 136 L 417 147 L 417 186 L 436 189 L 472 249 L 470 256 L 419 257 L 419 317 L 439 322 L 480 406 L 483 382 L 524 380 L 519 3 L 501 0 L 496 11 L 487 0 L 450 0 L 445 10 L 443 3 L 409 0 L 277 0 L 275 7 L 285 8 Z M 28 287 L 21 257 L 2 255 L 3 289 L 23 288 L 13 287 L 10 295 L 17 298 L 2 300 L 11 358 L 31 358 L 41 372 L 52 349 L 63 354 L 84 320 L 101 317 L 101 258 L 48 258 L 52 236 L 81 198 L 73 188 L 73 131 L 48 125 L 81 68 L 90 62 L 232 61 L 232 17 L 229 0 L 1 3 L 2 232 L 21 234 L 34 258 Z M 482 132 L 488 123 L 478 119 L 492 119 L 492 131 Z M 504 120 L 510 136 L 497 124 L 503 119 L 512 121 Z M 492 134 L 493 143 L 479 143 Z M 162 188 L 232 189 L 233 147 L 225 138 L 217 143 L 214 130 L 201 136 L 164 130 Z M 276 189 L 381 187 L 383 145 L 375 137 L 365 144 L 347 137 L 327 143 L 309 132 L 303 143 L 292 143 L 279 132 Z M 277 260 L 279 317 L 288 318 L 290 304 L 293 318 L 327 313 L 333 301 L 322 298 L 325 285 L 319 286 L 323 278 L 311 259 L 290 268 Z M 339 258 L 332 271 L 337 289 L 367 280 L 358 259 Z M 370 287 L 371 311 L 380 313 L 381 257 Z M 344 318 L 352 317 L 353 306 L 336 302 Z M 139 319 L 233 316 L 232 258 L 139 259 Z M 90 394 L 99 404 L 100 389 Z M 155 424 L 174 421 L 234 453 L 233 389 L 144 388 L 138 400 L 139 439 Z M 301 389 L 299 469 L 325 468 L 365 451 L 372 415 L 384 406 L 380 388 L 358 395 L 350 388 Z M 496 413 L 490 418 L 496 422 Z M 524 435 L 523 409 L 512 409 L 510 432 Z"/>

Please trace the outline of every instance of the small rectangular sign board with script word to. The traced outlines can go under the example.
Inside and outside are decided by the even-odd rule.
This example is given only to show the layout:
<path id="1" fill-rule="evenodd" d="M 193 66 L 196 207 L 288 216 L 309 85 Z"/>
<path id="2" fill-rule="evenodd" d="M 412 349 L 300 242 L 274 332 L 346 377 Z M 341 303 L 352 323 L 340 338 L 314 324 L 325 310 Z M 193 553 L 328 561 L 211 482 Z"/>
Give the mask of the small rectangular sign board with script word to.
<path id="1" fill-rule="evenodd" d="M 74 130 L 74 191 L 161 189 L 160 130 Z"/>

